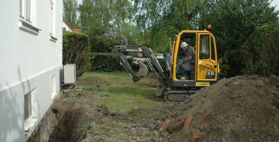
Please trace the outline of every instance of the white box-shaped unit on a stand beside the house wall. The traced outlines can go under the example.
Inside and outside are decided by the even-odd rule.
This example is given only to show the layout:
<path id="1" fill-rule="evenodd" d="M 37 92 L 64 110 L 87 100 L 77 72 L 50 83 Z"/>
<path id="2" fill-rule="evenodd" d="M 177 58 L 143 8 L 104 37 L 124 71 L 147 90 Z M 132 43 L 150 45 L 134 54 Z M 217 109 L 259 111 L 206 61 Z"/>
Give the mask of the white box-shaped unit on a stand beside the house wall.
<path id="1" fill-rule="evenodd" d="M 64 83 L 72 84 L 72 83 L 75 83 L 75 80 L 76 80 L 75 64 L 65 64 L 64 65 Z"/>

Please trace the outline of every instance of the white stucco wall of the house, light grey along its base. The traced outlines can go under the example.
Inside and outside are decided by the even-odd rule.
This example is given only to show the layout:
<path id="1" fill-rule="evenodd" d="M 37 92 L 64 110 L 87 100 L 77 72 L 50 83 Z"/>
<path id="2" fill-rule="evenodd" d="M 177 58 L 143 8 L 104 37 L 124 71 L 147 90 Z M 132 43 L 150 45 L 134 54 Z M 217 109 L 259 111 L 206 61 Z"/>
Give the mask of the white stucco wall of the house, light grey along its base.
<path id="1" fill-rule="evenodd" d="M 56 42 L 50 40 L 50 1 L 32 0 L 33 18 L 39 34 L 19 29 L 19 1 L 1 4 L 0 34 L 0 141 L 26 141 L 24 134 L 24 95 L 36 88 L 38 117 L 50 107 L 50 78 L 56 76 L 60 91 L 62 65 L 62 0 L 53 0 Z M 60 74 L 62 74 L 60 76 Z M 38 124 L 38 123 L 37 123 Z"/>

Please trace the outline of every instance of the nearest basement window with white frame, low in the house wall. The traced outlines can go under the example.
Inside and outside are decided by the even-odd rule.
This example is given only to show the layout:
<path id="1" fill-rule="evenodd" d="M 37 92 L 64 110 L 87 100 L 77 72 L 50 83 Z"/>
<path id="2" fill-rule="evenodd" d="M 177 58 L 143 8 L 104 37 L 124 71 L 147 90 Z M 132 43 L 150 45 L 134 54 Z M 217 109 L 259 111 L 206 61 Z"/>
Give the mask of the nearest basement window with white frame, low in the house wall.
<path id="1" fill-rule="evenodd" d="M 38 121 L 37 88 L 24 95 L 24 133 L 27 134 Z"/>

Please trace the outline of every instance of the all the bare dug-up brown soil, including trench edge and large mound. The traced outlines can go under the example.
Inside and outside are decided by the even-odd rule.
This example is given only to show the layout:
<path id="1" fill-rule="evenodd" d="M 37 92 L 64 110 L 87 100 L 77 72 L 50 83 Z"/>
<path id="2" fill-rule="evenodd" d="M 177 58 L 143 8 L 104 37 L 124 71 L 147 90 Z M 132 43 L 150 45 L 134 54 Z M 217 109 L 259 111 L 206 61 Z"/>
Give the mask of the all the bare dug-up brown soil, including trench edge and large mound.
<path id="1" fill-rule="evenodd" d="M 90 80 L 106 83 L 101 78 Z M 81 141 L 84 128 L 90 129 L 91 122 L 107 134 L 88 131 L 83 142 L 279 141 L 278 92 L 277 76 L 235 76 L 200 89 L 182 103 L 162 102 L 155 108 L 131 109 L 128 115 L 108 111 L 106 104 L 89 105 L 88 101 L 98 99 L 91 92 L 80 92 L 79 98 L 64 102 L 71 97 L 64 92 L 52 105 L 50 141 Z M 130 118 L 139 113 L 154 117 Z M 169 124 L 161 128 L 165 121 Z"/>

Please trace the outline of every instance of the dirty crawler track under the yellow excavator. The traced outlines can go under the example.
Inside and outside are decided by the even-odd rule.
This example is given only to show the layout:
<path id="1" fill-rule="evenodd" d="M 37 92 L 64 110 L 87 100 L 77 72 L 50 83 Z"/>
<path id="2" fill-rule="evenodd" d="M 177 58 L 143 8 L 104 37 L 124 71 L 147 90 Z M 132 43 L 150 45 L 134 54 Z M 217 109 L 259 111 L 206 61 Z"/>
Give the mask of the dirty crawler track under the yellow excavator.
<path id="1" fill-rule="evenodd" d="M 189 94 L 192 95 L 196 93 L 196 91 L 189 91 Z M 187 90 L 184 91 L 167 91 L 165 94 L 166 101 L 175 101 L 181 102 L 186 100 L 189 97 Z"/>

